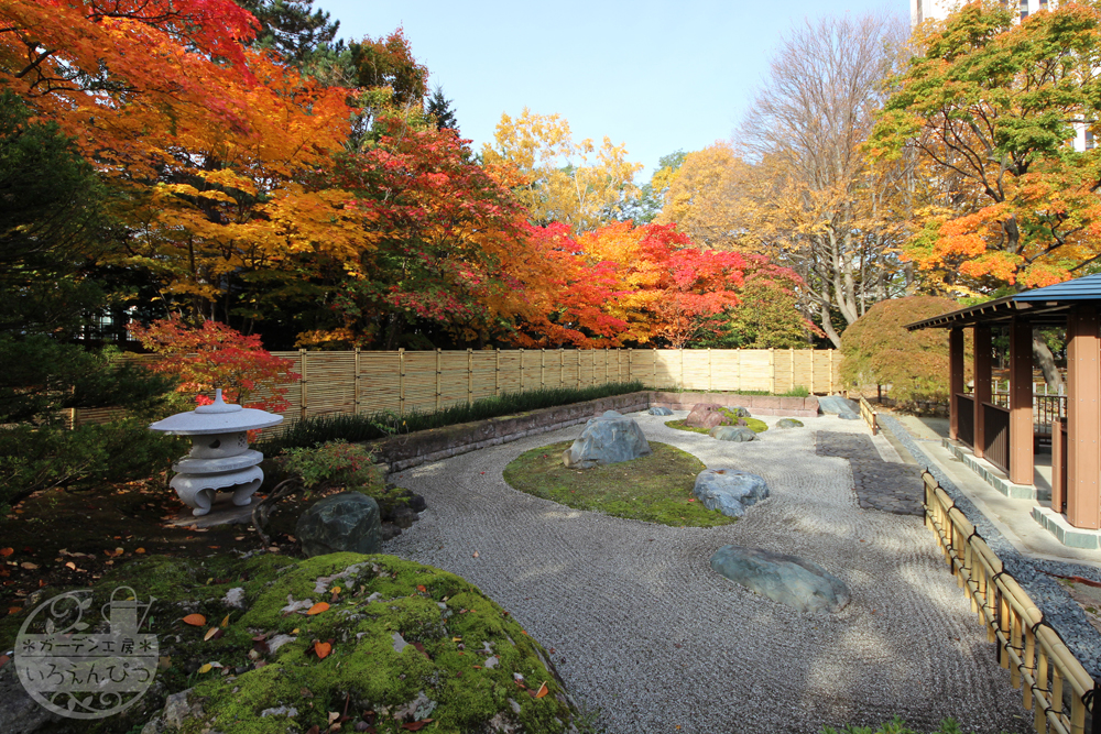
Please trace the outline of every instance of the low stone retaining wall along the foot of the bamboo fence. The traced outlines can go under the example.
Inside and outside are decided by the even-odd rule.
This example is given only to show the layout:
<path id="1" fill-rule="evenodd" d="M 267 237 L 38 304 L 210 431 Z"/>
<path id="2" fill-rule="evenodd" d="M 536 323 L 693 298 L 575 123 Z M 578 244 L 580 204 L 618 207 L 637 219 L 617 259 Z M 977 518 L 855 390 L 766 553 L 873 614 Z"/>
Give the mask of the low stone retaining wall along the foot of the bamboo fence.
<path id="1" fill-rule="evenodd" d="M 489 418 L 444 428 L 368 441 L 379 452 L 380 461 L 391 472 L 403 471 L 423 463 L 508 443 L 527 436 L 576 426 L 604 410 L 636 413 L 652 406 L 673 410 L 689 410 L 696 403 L 719 403 L 742 406 L 760 415 L 813 417 L 818 415 L 816 397 L 774 397 L 771 395 L 724 395 L 721 393 L 654 393 L 640 392 L 601 397 L 585 403 L 560 405 L 514 416 Z"/>

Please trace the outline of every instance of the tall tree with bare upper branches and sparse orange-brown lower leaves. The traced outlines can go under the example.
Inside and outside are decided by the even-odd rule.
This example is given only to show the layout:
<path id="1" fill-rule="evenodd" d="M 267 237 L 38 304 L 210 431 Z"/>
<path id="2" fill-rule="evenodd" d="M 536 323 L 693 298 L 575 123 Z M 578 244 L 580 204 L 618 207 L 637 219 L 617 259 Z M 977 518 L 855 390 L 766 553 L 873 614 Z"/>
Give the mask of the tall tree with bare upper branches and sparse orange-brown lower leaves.
<path id="1" fill-rule="evenodd" d="M 895 21 L 824 18 L 793 30 L 739 132 L 752 164 L 737 183 L 740 244 L 791 265 L 835 344 L 892 295 L 906 172 L 873 171 L 862 144 L 901 47 Z"/>

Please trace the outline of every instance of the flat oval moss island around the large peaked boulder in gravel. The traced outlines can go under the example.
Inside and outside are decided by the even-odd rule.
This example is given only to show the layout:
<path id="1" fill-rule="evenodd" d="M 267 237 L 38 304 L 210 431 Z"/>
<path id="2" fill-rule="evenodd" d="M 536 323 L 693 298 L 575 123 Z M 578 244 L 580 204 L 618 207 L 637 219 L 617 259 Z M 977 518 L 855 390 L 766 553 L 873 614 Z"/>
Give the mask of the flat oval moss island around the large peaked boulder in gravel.
<path id="1" fill-rule="evenodd" d="M 575 510 L 674 527 L 715 527 L 735 518 L 695 501 L 693 486 L 704 463 L 680 449 L 650 441 L 652 453 L 631 461 L 567 469 L 562 453 L 571 441 L 525 451 L 504 469 L 513 489 Z"/>

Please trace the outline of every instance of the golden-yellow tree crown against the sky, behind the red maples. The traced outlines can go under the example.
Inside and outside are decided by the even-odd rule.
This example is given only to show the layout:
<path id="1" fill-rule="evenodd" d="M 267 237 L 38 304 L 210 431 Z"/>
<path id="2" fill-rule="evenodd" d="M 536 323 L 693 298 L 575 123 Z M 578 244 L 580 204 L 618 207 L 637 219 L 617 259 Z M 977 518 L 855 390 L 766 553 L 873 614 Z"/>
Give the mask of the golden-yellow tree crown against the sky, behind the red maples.
<path id="1" fill-rule="evenodd" d="M 515 172 L 515 194 L 533 224 L 560 221 L 575 233 L 619 219 L 637 194 L 634 174 L 642 164 L 626 155 L 626 146 L 608 136 L 599 147 L 591 139 L 574 142 L 564 118 L 527 108 L 515 119 L 502 114 L 494 145 L 482 147 L 489 166 Z"/>

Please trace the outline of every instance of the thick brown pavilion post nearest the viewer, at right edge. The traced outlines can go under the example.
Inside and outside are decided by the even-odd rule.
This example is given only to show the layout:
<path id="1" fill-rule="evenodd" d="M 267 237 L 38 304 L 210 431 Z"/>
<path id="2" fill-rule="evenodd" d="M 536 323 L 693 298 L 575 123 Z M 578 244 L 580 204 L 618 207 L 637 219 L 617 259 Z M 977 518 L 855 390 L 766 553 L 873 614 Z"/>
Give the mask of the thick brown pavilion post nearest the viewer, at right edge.
<path id="1" fill-rule="evenodd" d="M 1098 529 L 1101 524 L 1101 365 L 1095 307 L 1079 306 L 1067 319 L 1067 522 Z M 1058 424 L 1053 430 L 1058 429 Z M 1051 468 L 1055 472 L 1057 469 Z"/>

